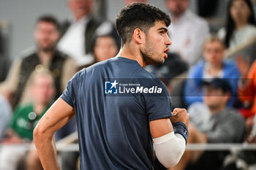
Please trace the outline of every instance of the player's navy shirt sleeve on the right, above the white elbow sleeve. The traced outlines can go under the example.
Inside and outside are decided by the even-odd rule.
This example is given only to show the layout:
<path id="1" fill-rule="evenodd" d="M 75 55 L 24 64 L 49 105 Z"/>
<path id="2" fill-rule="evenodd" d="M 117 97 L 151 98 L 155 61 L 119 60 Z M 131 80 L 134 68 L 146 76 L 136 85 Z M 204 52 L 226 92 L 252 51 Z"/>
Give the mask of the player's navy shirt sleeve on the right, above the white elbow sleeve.
<path id="1" fill-rule="evenodd" d="M 164 117 L 171 117 L 171 98 L 164 83 L 154 80 L 152 86 L 162 88 L 162 93 L 145 95 L 146 113 L 148 120 L 157 120 Z"/>

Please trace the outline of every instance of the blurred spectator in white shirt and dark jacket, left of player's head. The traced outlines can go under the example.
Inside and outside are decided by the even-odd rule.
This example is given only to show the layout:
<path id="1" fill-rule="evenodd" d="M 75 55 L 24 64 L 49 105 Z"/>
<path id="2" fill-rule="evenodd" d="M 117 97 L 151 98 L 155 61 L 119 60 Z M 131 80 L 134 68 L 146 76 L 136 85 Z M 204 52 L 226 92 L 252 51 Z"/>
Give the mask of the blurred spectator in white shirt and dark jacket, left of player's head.
<path id="1" fill-rule="evenodd" d="M 95 0 L 69 0 L 72 18 L 62 25 L 62 35 L 59 49 L 71 55 L 78 66 L 91 65 L 94 58 L 91 55 L 91 42 L 95 34 L 108 33 L 116 29 L 113 24 L 92 15 Z"/>

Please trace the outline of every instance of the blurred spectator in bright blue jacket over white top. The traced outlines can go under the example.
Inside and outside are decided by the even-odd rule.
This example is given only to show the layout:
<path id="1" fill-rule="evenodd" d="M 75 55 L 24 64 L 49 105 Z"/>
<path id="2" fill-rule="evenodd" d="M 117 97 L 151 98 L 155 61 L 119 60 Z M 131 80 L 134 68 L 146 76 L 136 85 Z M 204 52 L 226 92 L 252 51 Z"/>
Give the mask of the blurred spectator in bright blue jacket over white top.
<path id="1" fill-rule="evenodd" d="M 203 102 L 203 80 L 219 77 L 228 79 L 232 87 L 229 107 L 236 101 L 237 82 L 240 73 L 235 61 L 224 59 L 225 45 L 217 36 L 209 36 L 203 45 L 205 61 L 199 61 L 189 70 L 184 87 L 184 99 L 187 105 Z"/>

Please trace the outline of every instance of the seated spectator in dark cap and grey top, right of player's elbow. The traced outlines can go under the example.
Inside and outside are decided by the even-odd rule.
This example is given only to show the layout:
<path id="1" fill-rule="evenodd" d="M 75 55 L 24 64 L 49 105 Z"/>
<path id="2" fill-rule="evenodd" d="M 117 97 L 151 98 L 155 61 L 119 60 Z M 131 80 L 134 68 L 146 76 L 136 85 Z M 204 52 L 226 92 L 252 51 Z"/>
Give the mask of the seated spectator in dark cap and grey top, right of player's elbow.
<path id="1" fill-rule="evenodd" d="M 237 143 L 243 142 L 246 128 L 244 118 L 236 109 L 227 108 L 231 92 L 230 84 L 215 78 L 211 82 L 204 82 L 204 104 L 210 111 L 210 118 L 204 129 L 198 129 L 189 124 L 188 143 Z M 196 117 L 202 115 L 191 115 Z M 222 167 L 226 152 L 198 152 L 185 151 L 184 156 L 172 170 L 208 169 L 216 170 Z"/>

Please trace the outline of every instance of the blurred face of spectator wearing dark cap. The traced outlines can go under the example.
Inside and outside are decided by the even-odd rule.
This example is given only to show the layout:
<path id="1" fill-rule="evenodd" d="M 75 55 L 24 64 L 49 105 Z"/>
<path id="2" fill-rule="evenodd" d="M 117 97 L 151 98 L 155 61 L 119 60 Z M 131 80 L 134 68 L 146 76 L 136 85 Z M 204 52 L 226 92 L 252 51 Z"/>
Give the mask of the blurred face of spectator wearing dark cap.
<path id="1" fill-rule="evenodd" d="M 227 104 L 229 94 L 223 92 L 221 88 L 214 88 L 211 85 L 206 85 L 204 88 L 203 101 L 210 109 L 216 109 Z"/>

